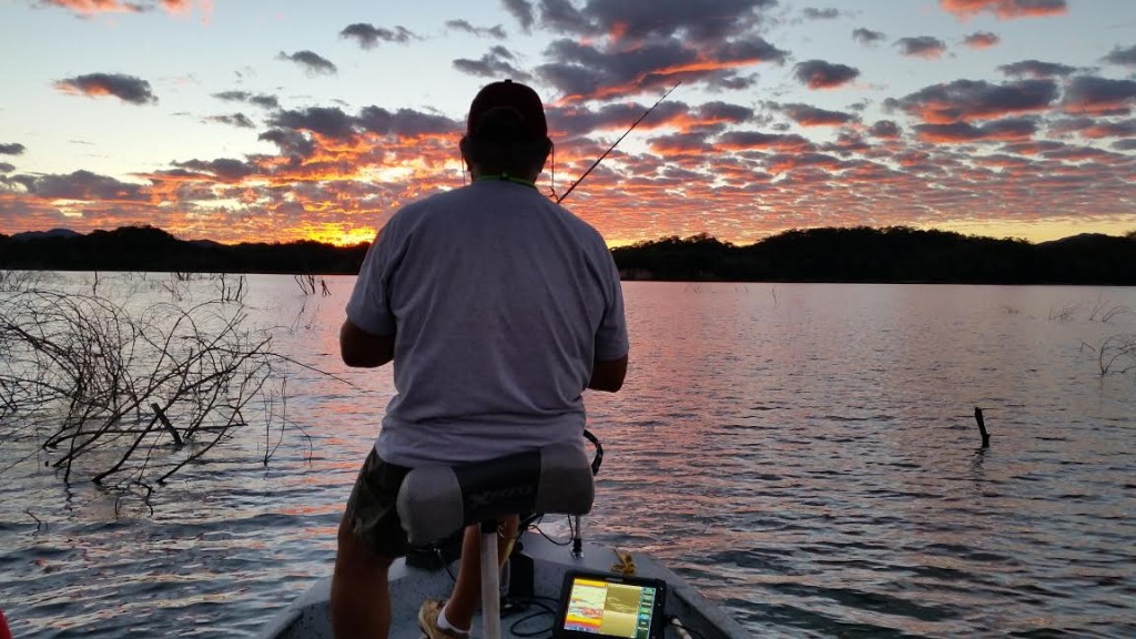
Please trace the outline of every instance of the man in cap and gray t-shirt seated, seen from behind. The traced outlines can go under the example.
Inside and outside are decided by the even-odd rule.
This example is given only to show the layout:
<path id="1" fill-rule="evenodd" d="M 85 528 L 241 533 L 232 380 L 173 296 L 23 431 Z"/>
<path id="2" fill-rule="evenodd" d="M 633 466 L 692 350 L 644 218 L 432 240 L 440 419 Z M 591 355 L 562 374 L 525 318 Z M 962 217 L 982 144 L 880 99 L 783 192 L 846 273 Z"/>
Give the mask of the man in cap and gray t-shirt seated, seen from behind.
<path id="1" fill-rule="evenodd" d="M 387 637 L 387 570 L 407 550 L 395 498 L 410 468 L 546 446 L 583 454 L 583 391 L 618 391 L 627 371 L 611 254 L 534 184 L 552 149 L 536 92 L 508 80 L 482 89 L 460 149 L 473 182 L 394 214 L 367 252 L 340 332 L 349 366 L 394 363 L 396 393 L 340 524 L 337 639 Z M 503 559 L 517 517 L 499 523 Z M 468 636 L 478 564 L 470 526 L 452 595 L 419 612 L 427 637 Z"/>

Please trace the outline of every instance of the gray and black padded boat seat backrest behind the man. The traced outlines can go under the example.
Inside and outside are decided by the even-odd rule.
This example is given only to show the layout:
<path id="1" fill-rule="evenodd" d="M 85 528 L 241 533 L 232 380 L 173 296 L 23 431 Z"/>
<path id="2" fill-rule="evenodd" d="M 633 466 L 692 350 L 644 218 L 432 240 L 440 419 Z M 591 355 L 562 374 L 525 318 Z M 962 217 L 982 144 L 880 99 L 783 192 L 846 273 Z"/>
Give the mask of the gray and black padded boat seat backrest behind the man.
<path id="1" fill-rule="evenodd" d="M 486 462 L 414 468 L 399 489 L 398 511 L 410 543 L 421 546 L 506 515 L 586 515 L 594 498 L 584 453 L 550 446 Z"/>

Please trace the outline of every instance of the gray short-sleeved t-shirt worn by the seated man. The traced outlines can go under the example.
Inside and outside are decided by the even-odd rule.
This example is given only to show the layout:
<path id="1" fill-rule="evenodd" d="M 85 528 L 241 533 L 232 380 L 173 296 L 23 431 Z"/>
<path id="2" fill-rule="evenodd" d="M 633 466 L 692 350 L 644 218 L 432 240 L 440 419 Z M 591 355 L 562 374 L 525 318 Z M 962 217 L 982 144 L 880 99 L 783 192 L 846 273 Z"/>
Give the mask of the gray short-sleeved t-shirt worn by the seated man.
<path id="1" fill-rule="evenodd" d="M 375 448 L 391 464 L 583 449 L 594 359 L 627 355 L 603 238 L 523 184 L 482 180 L 400 209 L 367 252 L 348 318 L 394 334 Z"/>

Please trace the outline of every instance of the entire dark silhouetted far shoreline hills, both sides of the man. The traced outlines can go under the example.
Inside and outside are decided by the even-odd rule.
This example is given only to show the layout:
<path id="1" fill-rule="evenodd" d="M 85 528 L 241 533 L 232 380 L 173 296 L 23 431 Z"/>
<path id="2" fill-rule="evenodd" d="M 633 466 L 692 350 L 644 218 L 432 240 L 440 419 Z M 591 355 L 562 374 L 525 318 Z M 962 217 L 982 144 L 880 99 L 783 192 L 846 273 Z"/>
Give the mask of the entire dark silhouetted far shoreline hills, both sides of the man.
<path id="1" fill-rule="evenodd" d="M 0 268 L 225 273 L 359 272 L 367 244 L 183 241 L 152 226 L 0 235 Z M 1136 285 L 1136 234 L 1031 244 L 905 226 L 792 230 L 738 247 L 709 235 L 612 250 L 624 280 Z"/>

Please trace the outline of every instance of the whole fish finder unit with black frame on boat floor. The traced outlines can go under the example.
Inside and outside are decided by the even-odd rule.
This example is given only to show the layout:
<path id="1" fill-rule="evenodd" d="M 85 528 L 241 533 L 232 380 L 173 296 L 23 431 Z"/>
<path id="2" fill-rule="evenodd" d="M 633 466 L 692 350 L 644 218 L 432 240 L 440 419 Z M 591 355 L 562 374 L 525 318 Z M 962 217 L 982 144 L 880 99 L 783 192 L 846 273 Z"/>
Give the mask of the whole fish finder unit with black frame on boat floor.
<path id="1" fill-rule="evenodd" d="M 565 639 L 661 639 L 667 582 L 569 571 L 552 636 Z"/>

